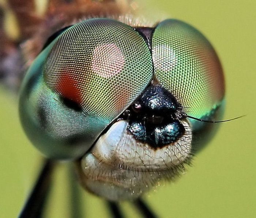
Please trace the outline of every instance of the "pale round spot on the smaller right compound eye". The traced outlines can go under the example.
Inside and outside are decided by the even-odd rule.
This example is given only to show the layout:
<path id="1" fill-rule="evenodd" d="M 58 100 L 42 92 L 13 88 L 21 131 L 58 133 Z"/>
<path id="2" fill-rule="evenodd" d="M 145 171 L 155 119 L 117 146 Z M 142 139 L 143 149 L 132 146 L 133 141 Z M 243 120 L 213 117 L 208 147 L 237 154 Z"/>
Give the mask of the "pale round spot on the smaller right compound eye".
<path id="1" fill-rule="evenodd" d="M 176 52 L 168 45 L 158 45 L 153 47 L 153 62 L 156 70 L 161 70 L 165 72 L 170 72 L 177 65 L 178 58 L 176 57 Z M 166 65 L 165 63 L 169 64 Z"/>

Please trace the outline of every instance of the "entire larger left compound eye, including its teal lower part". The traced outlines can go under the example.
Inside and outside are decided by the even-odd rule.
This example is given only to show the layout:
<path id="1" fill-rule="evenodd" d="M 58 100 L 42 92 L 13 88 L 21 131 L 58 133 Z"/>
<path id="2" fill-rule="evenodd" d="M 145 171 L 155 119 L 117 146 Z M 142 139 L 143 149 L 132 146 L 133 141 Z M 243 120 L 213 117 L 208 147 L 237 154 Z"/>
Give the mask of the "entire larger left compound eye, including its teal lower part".
<path id="1" fill-rule="evenodd" d="M 132 27 L 90 19 L 65 30 L 30 67 L 20 117 L 46 156 L 82 156 L 153 77 L 150 49 Z"/>

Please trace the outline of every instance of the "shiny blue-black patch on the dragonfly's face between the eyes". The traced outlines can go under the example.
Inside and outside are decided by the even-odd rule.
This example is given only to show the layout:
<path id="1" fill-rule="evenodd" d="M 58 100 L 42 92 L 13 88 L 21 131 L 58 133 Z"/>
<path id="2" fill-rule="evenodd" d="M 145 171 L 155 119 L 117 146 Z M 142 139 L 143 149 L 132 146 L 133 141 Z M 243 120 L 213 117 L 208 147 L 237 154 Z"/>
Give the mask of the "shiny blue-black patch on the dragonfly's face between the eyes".
<path id="1" fill-rule="evenodd" d="M 159 85 L 151 85 L 128 109 L 128 131 L 152 147 L 164 147 L 185 133 L 180 120 L 185 118 L 176 98 Z"/>

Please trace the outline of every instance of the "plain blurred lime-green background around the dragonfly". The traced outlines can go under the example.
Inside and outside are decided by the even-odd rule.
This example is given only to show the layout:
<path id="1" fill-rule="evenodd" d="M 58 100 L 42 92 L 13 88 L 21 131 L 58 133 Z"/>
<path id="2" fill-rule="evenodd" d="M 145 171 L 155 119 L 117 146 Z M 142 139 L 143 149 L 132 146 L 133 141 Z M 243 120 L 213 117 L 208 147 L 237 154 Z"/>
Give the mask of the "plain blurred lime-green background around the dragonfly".
<path id="1" fill-rule="evenodd" d="M 145 17 L 174 17 L 197 27 L 210 40 L 226 76 L 225 118 L 198 153 L 193 167 L 144 199 L 161 217 L 256 217 L 256 1 L 139 1 Z M 26 139 L 18 118 L 17 97 L 0 86 L 0 217 L 16 217 L 40 167 L 40 155 Z M 59 164 L 46 217 L 69 217 L 67 163 Z M 82 193 L 82 213 L 106 217 L 104 201 Z M 122 203 L 127 217 L 135 209 Z M 136 215 L 138 216 L 138 215 Z M 135 216 L 135 217 L 136 217 Z"/>

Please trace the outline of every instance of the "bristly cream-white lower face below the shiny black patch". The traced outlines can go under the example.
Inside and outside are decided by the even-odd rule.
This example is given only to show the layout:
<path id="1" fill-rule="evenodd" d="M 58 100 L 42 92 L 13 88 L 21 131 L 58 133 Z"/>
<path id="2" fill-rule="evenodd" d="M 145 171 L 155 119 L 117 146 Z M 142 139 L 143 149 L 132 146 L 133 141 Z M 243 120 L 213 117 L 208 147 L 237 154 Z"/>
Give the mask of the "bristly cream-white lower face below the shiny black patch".
<path id="1" fill-rule="evenodd" d="M 191 157 L 191 128 L 187 122 L 181 122 L 185 133 L 180 139 L 153 148 L 127 131 L 127 121 L 117 121 L 80 162 L 83 186 L 117 201 L 137 198 L 160 179 L 174 177 Z"/>

